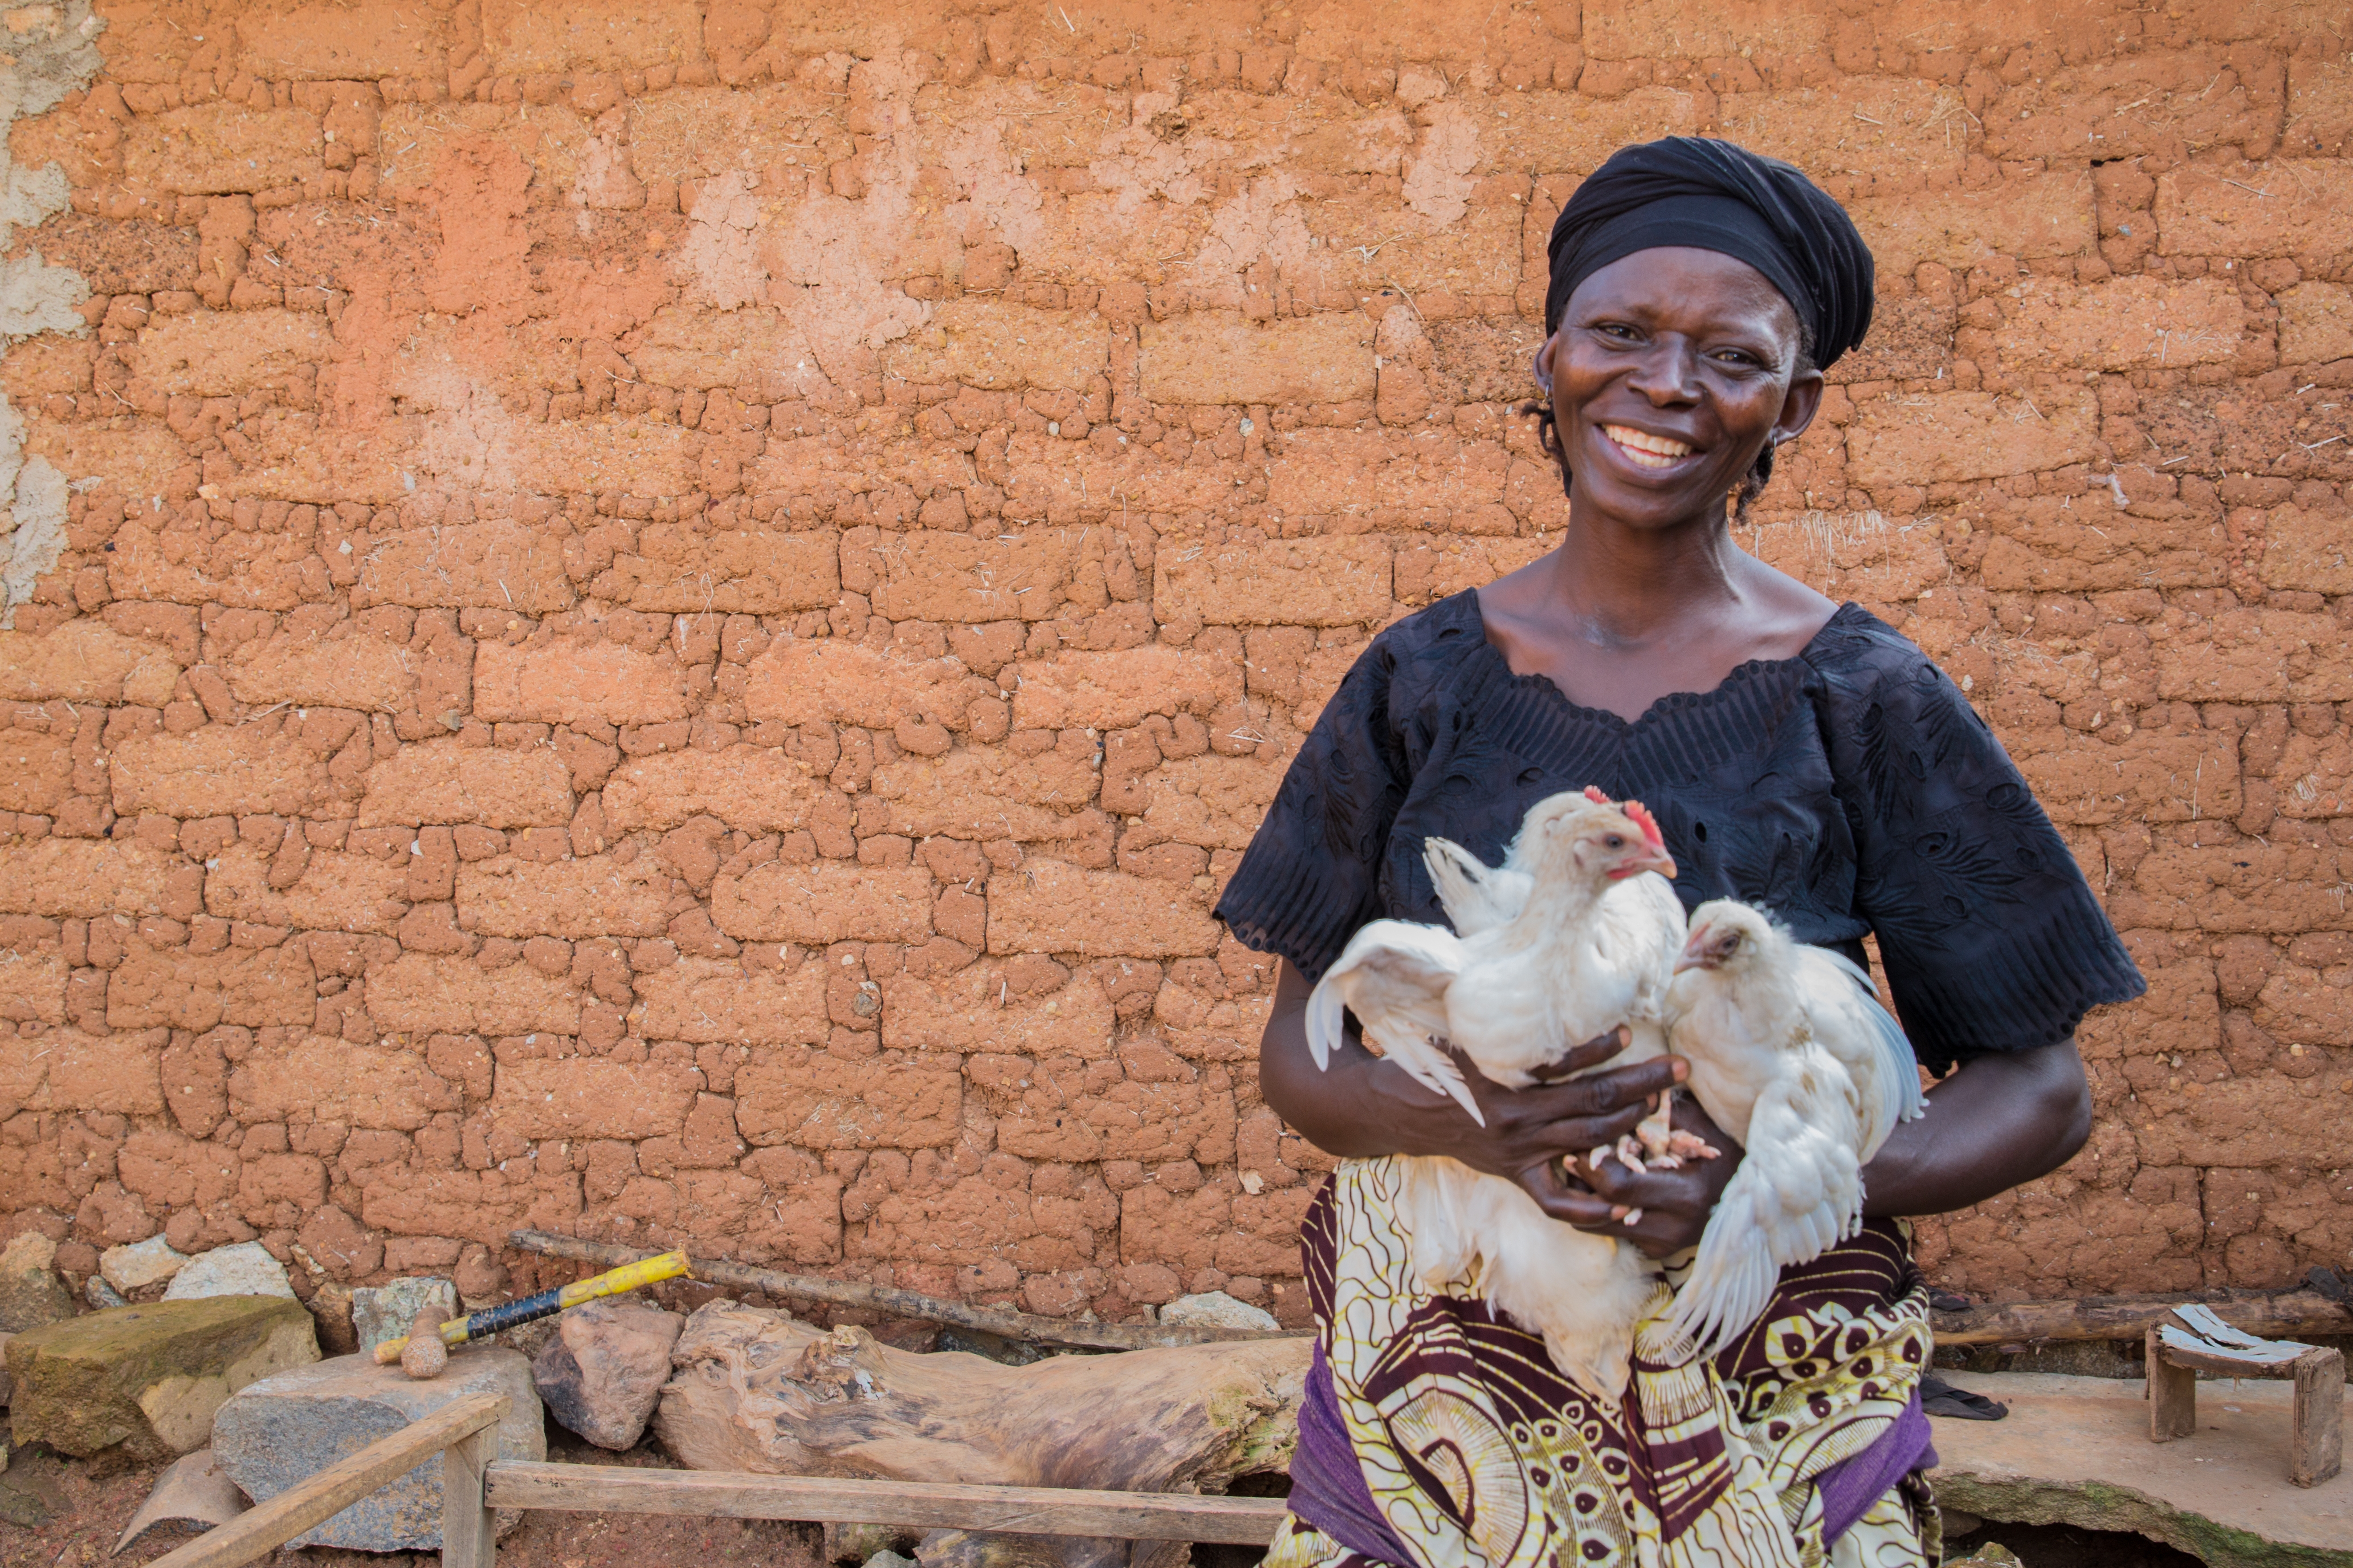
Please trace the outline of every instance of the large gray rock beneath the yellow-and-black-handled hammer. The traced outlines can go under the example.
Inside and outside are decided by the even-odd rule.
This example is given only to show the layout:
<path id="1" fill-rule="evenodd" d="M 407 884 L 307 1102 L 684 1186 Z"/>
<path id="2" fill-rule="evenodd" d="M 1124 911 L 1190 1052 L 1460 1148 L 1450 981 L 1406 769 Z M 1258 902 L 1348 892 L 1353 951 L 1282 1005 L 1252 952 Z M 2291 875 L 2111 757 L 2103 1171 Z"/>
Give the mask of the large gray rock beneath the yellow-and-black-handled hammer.
<path id="1" fill-rule="evenodd" d="M 501 1345 L 454 1352 L 449 1371 L 433 1382 L 412 1382 L 398 1366 L 376 1366 L 365 1354 L 264 1378 L 221 1406 L 212 1420 L 212 1453 L 247 1497 L 268 1502 L 466 1394 L 506 1394 L 513 1401 L 499 1422 L 501 1458 L 548 1458 L 532 1368 Z M 419 1465 L 287 1544 L 440 1552 L 440 1465 Z"/>

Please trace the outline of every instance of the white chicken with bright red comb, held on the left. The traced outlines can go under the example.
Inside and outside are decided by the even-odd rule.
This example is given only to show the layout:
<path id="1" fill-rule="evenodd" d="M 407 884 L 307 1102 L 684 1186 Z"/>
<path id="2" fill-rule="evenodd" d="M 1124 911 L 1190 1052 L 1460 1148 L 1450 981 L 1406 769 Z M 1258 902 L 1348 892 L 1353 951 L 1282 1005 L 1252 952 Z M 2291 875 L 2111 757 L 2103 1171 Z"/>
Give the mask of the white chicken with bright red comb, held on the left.
<path id="1" fill-rule="evenodd" d="M 1461 914 L 1447 905 L 1475 929 L 1377 919 L 1348 940 L 1308 997 L 1315 1063 L 1329 1063 L 1344 1016 L 1355 1013 L 1372 1048 L 1485 1124 L 1447 1044 L 1506 1088 L 1534 1084 L 1541 1067 L 1617 1027 L 1633 1034 L 1619 1063 L 1659 1056 L 1682 945 L 1673 870 L 1640 802 L 1539 802 L 1504 872 L 1466 872 L 1471 900 Z M 1633 1326 L 1657 1288 L 1652 1265 L 1631 1244 L 1548 1218 L 1515 1182 L 1442 1157 L 1400 1164 L 1398 1222 L 1424 1288 L 1464 1284 L 1485 1295 L 1541 1333 L 1562 1373 L 1617 1399 Z"/>

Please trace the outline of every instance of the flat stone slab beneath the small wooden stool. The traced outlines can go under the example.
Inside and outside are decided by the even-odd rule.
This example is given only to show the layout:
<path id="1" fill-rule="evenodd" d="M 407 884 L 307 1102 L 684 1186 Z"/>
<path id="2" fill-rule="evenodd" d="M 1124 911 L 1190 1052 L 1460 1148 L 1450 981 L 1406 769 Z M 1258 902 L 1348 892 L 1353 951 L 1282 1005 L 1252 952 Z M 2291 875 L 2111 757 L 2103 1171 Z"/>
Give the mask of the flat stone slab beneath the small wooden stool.
<path id="1" fill-rule="evenodd" d="M 2005 1523 L 2132 1530 L 2209 1568 L 2353 1568 L 2353 1472 L 2287 1483 L 2287 1382 L 2202 1380 L 2198 1432 L 2148 1441 L 2139 1380 L 1967 1373 L 2007 1420 L 1937 1422 L 1937 1502 Z"/>

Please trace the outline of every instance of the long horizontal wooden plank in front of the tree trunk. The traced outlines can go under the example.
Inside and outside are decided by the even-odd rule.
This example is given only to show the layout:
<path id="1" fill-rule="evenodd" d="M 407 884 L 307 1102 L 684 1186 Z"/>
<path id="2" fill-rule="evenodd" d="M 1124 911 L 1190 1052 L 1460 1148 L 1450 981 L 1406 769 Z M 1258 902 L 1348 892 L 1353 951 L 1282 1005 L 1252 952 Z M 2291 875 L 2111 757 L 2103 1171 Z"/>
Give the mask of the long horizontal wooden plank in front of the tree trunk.
<path id="1" fill-rule="evenodd" d="M 755 1476 L 631 1465 L 536 1465 L 499 1460 L 487 1502 L 501 1509 L 591 1514 L 720 1514 L 802 1523 L 896 1523 L 1007 1535 L 1108 1535 L 1113 1540 L 1273 1542 L 1280 1497 L 1193 1493 L 1089 1493 L 1056 1486 L 948 1486 L 842 1476 Z"/>

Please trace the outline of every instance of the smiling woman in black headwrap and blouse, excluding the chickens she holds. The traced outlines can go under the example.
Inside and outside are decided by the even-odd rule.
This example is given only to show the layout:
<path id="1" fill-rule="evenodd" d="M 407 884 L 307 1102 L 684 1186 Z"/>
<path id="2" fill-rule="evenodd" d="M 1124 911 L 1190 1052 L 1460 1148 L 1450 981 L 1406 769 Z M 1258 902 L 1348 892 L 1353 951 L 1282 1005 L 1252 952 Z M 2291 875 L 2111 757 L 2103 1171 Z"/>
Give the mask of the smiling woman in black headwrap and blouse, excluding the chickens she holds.
<path id="1" fill-rule="evenodd" d="M 1344 1157 L 1304 1227 L 1318 1361 L 1271 1563 L 1922 1563 L 1927 1291 L 1897 1215 L 1977 1204 L 2089 1131 L 2073 1030 L 2141 990 L 2082 875 L 1960 691 L 1904 637 L 1744 555 L 1729 520 L 1871 322 L 1871 252 L 1798 169 L 1722 141 L 1624 148 L 1553 228 L 1537 378 L 1569 487 L 1553 555 L 1381 632 L 1325 708 L 1219 914 L 1282 954 L 1266 1103 Z M 1478 1126 L 1360 1044 L 1318 1072 L 1308 987 L 1369 919 L 1442 922 L 1421 842 L 1501 860 L 1529 804 L 1652 806 L 1685 905 L 1734 896 L 1885 978 L 1929 1114 L 1866 1171 L 1866 1229 L 1784 1274 L 1732 1349 L 1635 1345 L 1624 1406 L 1541 1340 L 1428 1295 L 1386 1154 L 1518 1180 L 1553 1218 L 1668 1258 L 1739 1147 L 1682 1171 L 1555 1159 L 1626 1133 L 1664 1058 L 1506 1091 Z M 1567 1058 L 1593 1067 L 1593 1041 Z M 1633 1225 L 1624 1220 L 1640 1211 Z"/>

